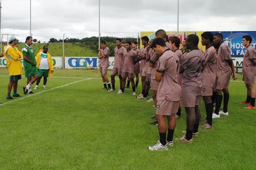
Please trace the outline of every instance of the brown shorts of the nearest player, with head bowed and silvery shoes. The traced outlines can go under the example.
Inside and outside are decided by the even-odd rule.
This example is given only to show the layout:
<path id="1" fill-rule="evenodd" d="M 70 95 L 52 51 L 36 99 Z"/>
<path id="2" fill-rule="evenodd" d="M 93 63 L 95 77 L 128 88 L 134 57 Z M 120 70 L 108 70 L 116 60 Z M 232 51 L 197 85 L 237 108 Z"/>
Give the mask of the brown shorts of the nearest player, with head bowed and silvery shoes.
<path id="1" fill-rule="evenodd" d="M 158 115 L 172 115 L 178 112 L 180 106 L 180 101 L 169 101 L 169 100 L 161 100 L 157 101 L 157 111 Z"/>

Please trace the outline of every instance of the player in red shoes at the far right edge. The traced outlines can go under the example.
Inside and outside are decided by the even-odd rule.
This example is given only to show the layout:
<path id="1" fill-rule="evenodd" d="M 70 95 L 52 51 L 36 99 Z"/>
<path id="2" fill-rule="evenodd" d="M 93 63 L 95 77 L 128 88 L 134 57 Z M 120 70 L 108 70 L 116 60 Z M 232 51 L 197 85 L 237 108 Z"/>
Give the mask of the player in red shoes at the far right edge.
<path id="1" fill-rule="evenodd" d="M 256 74 L 256 50 L 251 46 L 252 37 L 244 35 L 242 43 L 246 47 L 243 60 L 243 81 L 247 88 L 247 99 L 241 104 L 248 104 L 247 109 L 255 109 L 255 74 Z"/>

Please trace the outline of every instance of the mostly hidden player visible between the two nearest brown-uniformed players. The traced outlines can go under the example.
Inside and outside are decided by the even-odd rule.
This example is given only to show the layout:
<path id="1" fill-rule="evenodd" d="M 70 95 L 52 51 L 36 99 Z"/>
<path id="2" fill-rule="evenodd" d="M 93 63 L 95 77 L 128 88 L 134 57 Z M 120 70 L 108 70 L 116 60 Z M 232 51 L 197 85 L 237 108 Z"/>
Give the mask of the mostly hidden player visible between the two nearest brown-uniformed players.
<path id="1" fill-rule="evenodd" d="M 170 43 L 172 46 L 172 51 L 178 56 L 180 63 L 182 63 L 184 56 L 180 51 L 180 38 L 176 36 L 170 37 Z M 182 78 L 182 75 L 179 73 L 178 82 L 180 83 L 180 85 L 181 85 L 181 78 Z M 178 112 L 175 114 L 175 119 L 180 119 L 181 117 L 182 117 L 181 108 L 179 107 Z"/>

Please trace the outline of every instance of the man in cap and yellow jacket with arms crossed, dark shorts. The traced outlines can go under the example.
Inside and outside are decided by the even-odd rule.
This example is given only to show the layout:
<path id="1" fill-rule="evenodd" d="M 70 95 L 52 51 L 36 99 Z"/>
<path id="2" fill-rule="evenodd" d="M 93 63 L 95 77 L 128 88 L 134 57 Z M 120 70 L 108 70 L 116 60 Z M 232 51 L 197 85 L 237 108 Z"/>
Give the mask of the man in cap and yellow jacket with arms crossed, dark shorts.
<path id="1" fill-rule="evenodd" d="M 13 99 L 11 96 L 12 86 L 13 97 L 20 97 L 20 95 L 17 94 L 17 87 L 18 80 L 21 79 L 22 75 L 21 59 L 23 58 L 23 54 L 15 47 L 15 45 L 17 45 L 17 39 L 11 37 L 9 39 L 9 45 L 4 47 L 4 57 L 7 60 L 7 67 L 10 75 L 6 99 Z"/>

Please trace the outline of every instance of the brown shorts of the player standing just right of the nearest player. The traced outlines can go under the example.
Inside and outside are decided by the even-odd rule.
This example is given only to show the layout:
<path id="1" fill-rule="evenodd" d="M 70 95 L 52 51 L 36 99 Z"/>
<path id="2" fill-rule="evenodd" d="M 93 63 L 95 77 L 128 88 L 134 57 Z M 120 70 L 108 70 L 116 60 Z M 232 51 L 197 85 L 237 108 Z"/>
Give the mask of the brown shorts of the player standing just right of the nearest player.
<path id="1" fill-rule="evenodd" d="M 192 96 L 187 94 L 182 94 L 180 99 L 180 105 L 184 107 L 195 107 L 196 105 L 200 105 L 201 95 Z"/>

